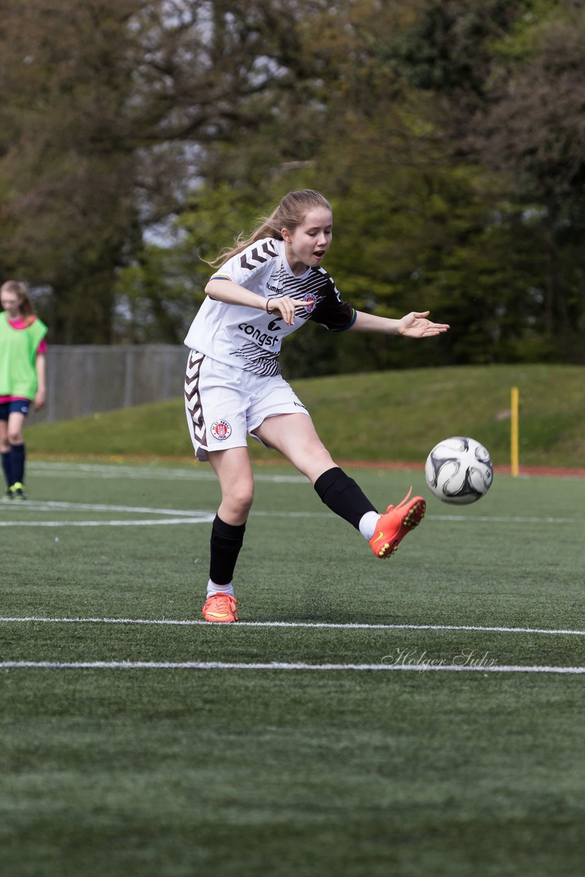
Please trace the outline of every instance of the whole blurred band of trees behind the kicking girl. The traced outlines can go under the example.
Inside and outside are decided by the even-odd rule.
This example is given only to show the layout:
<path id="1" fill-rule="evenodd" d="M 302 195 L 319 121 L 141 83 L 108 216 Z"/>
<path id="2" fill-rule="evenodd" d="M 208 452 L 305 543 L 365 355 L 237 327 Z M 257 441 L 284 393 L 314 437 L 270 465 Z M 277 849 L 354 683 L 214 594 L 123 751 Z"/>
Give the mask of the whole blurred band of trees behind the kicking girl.
<path id="1" fill-rule="evenodd" d="M 311 186 L 342 295 L 452 331 L 422 362 L 307 332 L 300 374 L 584 360 L 581 4 L 24 0 L 0 27 L 0 266 L 54 341 L 180 341 L 205 260 Z"/>

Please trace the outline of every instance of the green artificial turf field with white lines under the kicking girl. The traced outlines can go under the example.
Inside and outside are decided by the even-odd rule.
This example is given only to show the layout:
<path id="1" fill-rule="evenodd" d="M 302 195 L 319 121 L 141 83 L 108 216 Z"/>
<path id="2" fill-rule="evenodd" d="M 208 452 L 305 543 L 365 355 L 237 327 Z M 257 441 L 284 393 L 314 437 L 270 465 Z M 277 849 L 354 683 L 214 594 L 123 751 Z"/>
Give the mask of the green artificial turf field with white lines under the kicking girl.
<path id="1" fill-rule="evenodd" d="M 35 460 L 0 506 L 3 875 L 581 877 L 585 479 L 427 497 L 382 562 L 256 474 L 240 624 L 199 620 L 208 467 Z"/>

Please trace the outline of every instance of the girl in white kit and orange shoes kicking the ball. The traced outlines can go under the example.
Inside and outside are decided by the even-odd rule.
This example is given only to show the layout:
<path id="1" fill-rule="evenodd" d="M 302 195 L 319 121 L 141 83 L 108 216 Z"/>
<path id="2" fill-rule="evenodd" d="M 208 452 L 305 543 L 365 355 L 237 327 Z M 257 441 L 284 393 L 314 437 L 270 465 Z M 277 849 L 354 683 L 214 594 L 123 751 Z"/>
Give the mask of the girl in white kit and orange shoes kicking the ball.
<path id="1" fill-rule="evenodd" d="M 363 313 L 344 302 L 322 266 L 332 242 L 332 209 L 312 189 L 289 192 L 253 235 L 220 256 L 185 344 L 185 404 L 197 460 L 218 476 L 221 503 L 211 528 L 210 579 L 203 617 L 238 621 L 233 571 L 253 501 L 246 434 L 280 451 L 313 484 L 323 503 L 387 558 L 424 516 L 409 494 L 385 514 L 327 451 L 309 412 L 281 377 L 282 339 L 307 320 L 332 332 L 382 332 L 429 338 L 446 332 L 424 313 L 400 320 Z"/>

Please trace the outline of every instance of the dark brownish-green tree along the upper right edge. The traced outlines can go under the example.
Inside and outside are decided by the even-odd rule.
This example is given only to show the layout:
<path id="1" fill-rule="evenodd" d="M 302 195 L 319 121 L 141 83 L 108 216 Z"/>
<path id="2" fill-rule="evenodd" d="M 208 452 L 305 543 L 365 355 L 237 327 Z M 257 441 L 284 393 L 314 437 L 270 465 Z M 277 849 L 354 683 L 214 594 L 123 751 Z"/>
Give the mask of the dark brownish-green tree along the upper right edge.
<path id="1" fill-rule="evenodd" d="M 403 81 L 441 111 L 453 160 L 496 171 L 524 205 L 541 272 L 527 332 L 568 361 L 585 359 L 584 39 L 574 0 L 425 0 L 390 46 Z"/>

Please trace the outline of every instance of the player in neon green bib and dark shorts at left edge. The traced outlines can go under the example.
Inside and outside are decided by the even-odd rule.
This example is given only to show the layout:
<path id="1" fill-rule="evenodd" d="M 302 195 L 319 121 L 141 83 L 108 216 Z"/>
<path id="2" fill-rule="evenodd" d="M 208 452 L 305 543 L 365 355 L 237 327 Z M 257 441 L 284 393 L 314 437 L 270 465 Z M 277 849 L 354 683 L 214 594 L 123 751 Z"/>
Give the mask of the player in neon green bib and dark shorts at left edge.
<path id="1" fill-rule="evenodd" d="M 5 499 L 25 499 L 23 425 L 31 403 L 45 404 L 46 325 L 35 317 L 24 283 L 0 288 L 0 450 L 8 490 Z"/>

